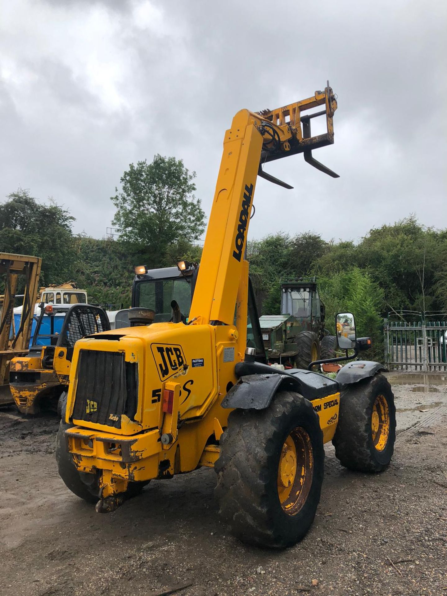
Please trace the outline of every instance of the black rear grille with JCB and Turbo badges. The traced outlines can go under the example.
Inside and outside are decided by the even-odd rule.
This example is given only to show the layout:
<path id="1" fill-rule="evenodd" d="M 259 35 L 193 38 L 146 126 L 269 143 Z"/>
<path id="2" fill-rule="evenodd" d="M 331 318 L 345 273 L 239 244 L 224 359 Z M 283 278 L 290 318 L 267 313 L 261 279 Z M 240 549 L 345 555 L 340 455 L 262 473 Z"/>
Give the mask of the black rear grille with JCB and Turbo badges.
<path id="1" fill-rule="evenodd" d="M 121 415 L 134 419 L 137 365 L 123 352 L 80 350 L 73 418 L 120 428 Z"/>

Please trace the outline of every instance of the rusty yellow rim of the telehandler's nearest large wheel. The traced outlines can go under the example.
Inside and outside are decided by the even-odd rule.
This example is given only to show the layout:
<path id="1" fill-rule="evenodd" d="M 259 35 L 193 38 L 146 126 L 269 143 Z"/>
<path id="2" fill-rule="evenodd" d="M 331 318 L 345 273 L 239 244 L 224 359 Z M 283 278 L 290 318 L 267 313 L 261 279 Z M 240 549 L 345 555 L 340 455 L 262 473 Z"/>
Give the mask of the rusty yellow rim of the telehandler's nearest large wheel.
<path id="1" fill-rule="evenodd" d="M 309 434 L 297 427 L 285 439 L 278 464 L 278 496 L 283 511 L 294 516 L 312 486 L 313 450 Z"/>

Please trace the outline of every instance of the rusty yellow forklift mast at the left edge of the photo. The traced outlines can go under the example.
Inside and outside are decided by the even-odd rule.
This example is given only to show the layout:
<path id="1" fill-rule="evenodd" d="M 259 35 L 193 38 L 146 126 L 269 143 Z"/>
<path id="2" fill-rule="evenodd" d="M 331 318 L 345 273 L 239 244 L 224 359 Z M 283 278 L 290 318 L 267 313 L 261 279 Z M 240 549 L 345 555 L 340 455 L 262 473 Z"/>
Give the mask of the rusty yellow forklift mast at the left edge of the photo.
<path id="1" fill-rule="evenodd" d="M 0 313 L 0 405 L 13 403 L 10 362 L 28 352 L 42 259 L 26 254 L 0 253 L 0 280 L 4 287 Z M 14 325 L 14 307 L 21 299 L 21 315 Z"/>

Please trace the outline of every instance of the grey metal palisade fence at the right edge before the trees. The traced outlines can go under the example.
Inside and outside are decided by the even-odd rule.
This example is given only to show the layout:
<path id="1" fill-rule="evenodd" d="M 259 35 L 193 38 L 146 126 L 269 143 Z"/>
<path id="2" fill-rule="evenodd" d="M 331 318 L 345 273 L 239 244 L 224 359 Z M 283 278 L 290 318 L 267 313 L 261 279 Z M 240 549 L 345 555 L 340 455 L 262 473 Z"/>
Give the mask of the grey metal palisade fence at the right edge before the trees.
<path id="1" fill-rule="evenodd" d="M 389 313 L 384 319 L 389 370 L 447 371 L 447 313 Z"/>

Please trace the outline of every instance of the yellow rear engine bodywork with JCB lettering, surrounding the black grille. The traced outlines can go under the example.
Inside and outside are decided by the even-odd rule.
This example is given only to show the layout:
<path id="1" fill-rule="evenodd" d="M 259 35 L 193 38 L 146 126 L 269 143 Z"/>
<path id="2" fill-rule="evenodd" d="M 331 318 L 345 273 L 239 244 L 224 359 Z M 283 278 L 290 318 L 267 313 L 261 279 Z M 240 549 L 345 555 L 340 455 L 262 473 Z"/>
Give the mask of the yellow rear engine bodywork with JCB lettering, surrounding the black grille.
<path id="1" fill-rule="evenodd" d="M 235 327 L 232 330 L 236 331 Z M 229 410 L 221 408 L 220 403 L 228 384 L 237 382 L 234 375 L 234 365 L 240 361 L 235 342 L 237 334 L 231 335 L 228 327 L 188 327 L 182 323 L 157 323 L 124 331 L 126 334 L 119 340 L 103 339 L 107 335 L 116 337 L 116 332 L 107 331 L 98 339 L 76 343 L 73 363 L 79 361 L 83 350 L 110 353 L 120 350 L 126 362 L 138 364 L 139 378 L 134 420 L 122 415 L 120 427 L 107 427 L 107 424 L 89 421 L 97 411 L 94 395 L 86 402 L 82 418 L 73 416 L 79 383 L 77 369 L 73 366 L 66 421 L 76 425 L 67 430 L 67 437 L 70 452 L 76 454 L 78 469 L 107 469 L 117 476 L 135 480 L 194 470 L 209 437 L 221 434 L 222 427 L 226 426 Z M 218 368 L 221 386 L 217 383 Z M 162 407 L 164 392 L 169 390 L 175 392 L 173 412 L 176 414 L 172 415 L 163 412 Z M 163 445 L 161 436 L 168 433 L 174 440 Z M 86 437 L 86 442 L 80 437 Z M 87 445 L 89 441 L 91 448 Z M 117 442 L 121 449 L 125 446 L 126 454 L 131 454 L 127 456 L 132 458 L 131 465 L 117 455 L 116 448 L 114 455 L 110 449 L 104 449 L 104 445 Z"/>

